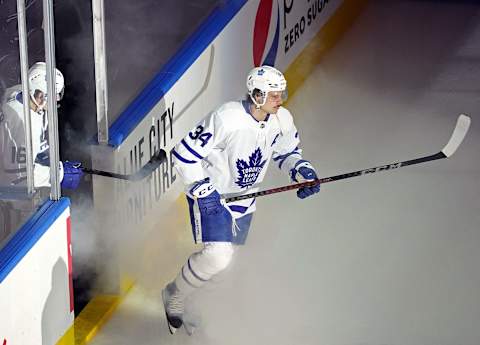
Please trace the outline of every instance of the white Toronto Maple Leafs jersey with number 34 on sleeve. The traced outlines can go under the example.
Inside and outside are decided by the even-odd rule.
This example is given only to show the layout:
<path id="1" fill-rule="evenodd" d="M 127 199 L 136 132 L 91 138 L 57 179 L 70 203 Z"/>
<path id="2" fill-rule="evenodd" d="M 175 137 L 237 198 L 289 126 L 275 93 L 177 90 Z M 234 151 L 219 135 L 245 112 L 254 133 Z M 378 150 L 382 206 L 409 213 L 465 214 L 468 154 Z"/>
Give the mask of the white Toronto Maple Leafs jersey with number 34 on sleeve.
<path id="1" fill-rule="evenodd" d="M 174 150 L 174 165 L 187 186 L 210 178 L 223 195 L 258 191 L 270 160 L 289 173 L 302 160 L 290 112 L 280 107 L 265 121 L 256 120 L 248 101 L 228 102 L 204 118 Z M 227 205 L 239 218 L 255 211 L 255 200 Z"/>

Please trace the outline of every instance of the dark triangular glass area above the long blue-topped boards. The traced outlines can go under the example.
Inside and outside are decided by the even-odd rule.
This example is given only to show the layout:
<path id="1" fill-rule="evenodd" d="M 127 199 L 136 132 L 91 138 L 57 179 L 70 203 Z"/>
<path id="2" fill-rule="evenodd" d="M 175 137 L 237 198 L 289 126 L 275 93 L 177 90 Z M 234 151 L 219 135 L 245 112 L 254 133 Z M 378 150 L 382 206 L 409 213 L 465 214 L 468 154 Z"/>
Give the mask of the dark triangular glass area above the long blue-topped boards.
<path id="1" fill-rule="evenodd" d="M 105 0 L 110 125 L 220 0 Z"/>

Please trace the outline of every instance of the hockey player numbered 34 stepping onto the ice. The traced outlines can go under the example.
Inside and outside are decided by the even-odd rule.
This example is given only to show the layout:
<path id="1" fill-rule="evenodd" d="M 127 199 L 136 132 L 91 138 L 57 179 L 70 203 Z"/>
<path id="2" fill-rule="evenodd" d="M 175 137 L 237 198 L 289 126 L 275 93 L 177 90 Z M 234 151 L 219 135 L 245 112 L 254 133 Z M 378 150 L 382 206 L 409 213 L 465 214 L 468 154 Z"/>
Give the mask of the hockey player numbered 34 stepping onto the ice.
<path id="1" fill-rule="evenodd" d="M 299 136 L 290 112 L 283 74 L 270 66 L 254 68 L 247 77 L 248 96 L 228 102 L 204 118 L 173 151 L 176 169 L 186 186 L 195 243 L 203 249 L 192 254 L 178 276 L 162 291 L 168 326 L 173 334 L 185 325 L 184 301 L 195 289 L 229 266 L 236 245 L 242 245 L 255 211 L 255 199 L 226 204 L 222 194 L 258 190 L 271 160 L 292 181 L 317 178 L 302 158 Z M 301 199 L 320 186 L 297 191 Z"/>

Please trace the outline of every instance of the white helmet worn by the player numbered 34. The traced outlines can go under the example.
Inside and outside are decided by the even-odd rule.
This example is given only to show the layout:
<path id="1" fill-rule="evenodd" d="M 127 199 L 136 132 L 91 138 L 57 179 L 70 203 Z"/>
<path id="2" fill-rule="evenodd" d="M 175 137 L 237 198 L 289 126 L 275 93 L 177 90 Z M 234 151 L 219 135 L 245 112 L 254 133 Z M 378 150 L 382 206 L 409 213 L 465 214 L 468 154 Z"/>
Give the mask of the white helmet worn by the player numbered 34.
<path id="1" fill-rule="evenodd" d="M 267 94 L 271 91 L 282 92 L 282 100 L 287 99 L 287 81 L 282 72 L 271 66 L 260 66 L 252 69 L 247 76 L 247 90 L 253 103 L 261 107 L 267 101 Z M 262 101 L 257 102 L 256 97 Z"/>

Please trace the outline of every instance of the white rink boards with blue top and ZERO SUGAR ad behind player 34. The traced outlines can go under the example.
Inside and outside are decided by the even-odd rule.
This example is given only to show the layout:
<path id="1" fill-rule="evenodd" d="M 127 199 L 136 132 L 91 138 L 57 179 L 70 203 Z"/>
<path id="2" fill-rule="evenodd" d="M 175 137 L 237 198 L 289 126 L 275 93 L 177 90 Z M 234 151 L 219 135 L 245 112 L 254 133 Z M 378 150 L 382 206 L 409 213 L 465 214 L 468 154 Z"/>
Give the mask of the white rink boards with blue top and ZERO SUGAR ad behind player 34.
<path id="1" fill-rule="evenodd" d="M 242 99 L 246 74 L 255 65 L 284 71 L 289 92 L 295 92 L 360 3 L 237 0 L 218 7 L 112 124 L 110 146 L 93 151 L 94 168 L 124 174 L 138 170 L 158 149 L 168 158 L 140 183 L 94 177 L 99 213 L 114 214 L 105 227 L 151 222 L 182 189 L 172 166 L 174 145 L 215 107 Z M 332 30 L 318 35 L 328 27 Z"/>

